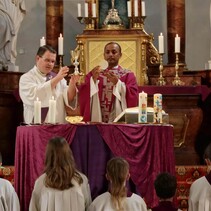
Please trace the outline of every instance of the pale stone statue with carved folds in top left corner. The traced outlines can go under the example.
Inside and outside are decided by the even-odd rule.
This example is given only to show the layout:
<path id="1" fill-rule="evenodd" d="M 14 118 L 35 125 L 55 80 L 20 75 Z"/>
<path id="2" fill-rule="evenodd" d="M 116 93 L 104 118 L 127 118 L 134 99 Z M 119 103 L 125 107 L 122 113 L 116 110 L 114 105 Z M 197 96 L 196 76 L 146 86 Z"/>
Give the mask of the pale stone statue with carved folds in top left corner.
<path id="1" fill-rule="evenodd" d="M 25 13 L 25 0 L 0 1 L 0 69 L 15 66 L 17 35 Z"/>

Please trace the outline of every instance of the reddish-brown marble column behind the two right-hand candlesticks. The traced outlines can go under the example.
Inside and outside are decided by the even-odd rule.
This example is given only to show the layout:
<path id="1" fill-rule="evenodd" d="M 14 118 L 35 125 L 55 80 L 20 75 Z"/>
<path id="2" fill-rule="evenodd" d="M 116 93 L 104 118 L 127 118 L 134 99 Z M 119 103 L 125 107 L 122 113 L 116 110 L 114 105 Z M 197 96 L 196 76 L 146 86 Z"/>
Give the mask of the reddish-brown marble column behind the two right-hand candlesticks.
<path id="1" fill-rule="evenodd" d="M 179 63 L 185 62 L 185 0 L 167 0 L 168 63 L 175 63 L 174 38 L 181 37 Z"/>

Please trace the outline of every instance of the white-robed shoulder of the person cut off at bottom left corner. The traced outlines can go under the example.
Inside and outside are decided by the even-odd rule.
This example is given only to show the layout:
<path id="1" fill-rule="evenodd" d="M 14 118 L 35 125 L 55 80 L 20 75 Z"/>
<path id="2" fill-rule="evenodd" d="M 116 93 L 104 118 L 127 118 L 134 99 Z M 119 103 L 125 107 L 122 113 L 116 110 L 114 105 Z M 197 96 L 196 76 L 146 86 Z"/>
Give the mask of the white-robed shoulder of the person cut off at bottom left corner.
<path id="1" fill-rule="evenodd" d="M 18 196 L 12 184 L 0 178 L 0 210 L 1 211 L 20 211 Z"/>

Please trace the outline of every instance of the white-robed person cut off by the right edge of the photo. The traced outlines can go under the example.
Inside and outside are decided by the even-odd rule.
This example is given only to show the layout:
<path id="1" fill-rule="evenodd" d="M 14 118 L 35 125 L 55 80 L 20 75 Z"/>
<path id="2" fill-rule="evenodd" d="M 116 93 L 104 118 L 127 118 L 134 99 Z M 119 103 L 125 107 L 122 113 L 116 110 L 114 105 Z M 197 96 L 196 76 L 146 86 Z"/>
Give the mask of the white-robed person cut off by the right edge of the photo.
<path id="1" fill-rule="evenodd" d="M 208 174 L 192 183 L 188 198 L 189 211 L 211 210 L 211 143 L 205 149 L 204 160 L 208 167 Z"/>

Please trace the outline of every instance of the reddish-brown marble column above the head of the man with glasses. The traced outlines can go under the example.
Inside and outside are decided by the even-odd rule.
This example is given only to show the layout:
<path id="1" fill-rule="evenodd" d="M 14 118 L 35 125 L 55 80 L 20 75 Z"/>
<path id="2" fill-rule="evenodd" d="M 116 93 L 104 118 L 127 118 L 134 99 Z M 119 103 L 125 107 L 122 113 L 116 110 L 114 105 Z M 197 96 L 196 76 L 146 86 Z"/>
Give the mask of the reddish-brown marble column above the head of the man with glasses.
<path id="1" fill-rule="evenodd" d="M 63 0 L 46 0 L 46 43 L 58 52 L 58 37 L 63 34 Z"/>

